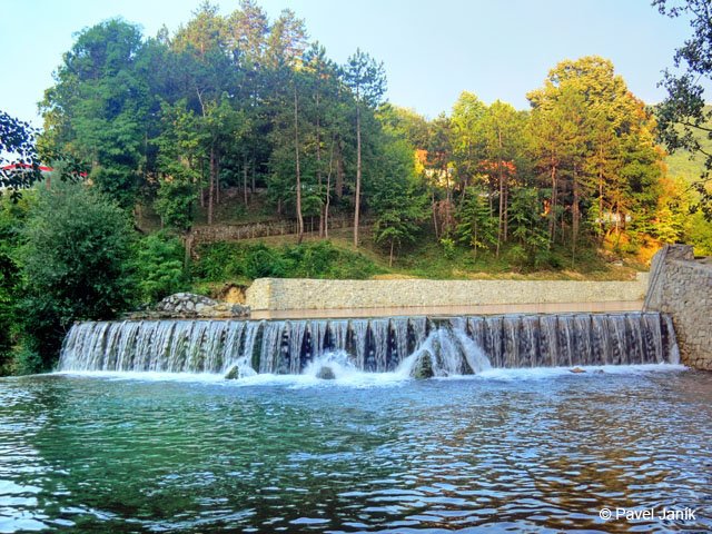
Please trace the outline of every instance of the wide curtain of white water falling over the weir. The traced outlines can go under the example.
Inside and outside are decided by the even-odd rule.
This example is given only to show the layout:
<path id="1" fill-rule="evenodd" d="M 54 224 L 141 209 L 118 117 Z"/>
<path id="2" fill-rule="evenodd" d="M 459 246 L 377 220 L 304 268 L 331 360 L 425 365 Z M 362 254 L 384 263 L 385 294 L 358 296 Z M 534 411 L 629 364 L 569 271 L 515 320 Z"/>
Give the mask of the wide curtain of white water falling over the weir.
<path id="1" fill-rule="evenodd" d="M 476 374 L 490 367 L 676 364 L 670 317 L 657 313 L 394 317 L 318 320 L 80 323 L 59 370 L 301 374 L 339 369 Z"/>

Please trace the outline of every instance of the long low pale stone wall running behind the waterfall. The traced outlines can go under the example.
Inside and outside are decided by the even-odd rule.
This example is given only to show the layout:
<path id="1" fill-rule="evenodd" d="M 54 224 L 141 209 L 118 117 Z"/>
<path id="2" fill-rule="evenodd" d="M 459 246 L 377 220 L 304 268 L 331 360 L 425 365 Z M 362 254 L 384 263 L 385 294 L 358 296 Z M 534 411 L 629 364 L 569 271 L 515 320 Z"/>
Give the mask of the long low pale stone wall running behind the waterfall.
<path id="1" fill-rule="evenodd" d="M 640 301 L 646 287 L 645 273 L 633 281 L 260 278 L 247 289 L 246 304 L 253 310 L 286 310 Z"/>

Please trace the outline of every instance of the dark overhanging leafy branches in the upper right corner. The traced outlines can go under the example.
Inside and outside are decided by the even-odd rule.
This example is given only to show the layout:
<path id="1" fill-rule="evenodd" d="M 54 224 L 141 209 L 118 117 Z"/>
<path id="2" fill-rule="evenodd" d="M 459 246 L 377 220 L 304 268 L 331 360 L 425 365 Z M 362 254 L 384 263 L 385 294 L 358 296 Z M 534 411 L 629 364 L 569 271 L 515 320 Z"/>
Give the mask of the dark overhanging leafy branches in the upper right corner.
<path id="1" fill-rule="evenodd" d="M 705 91 L 712 81 L 712 7 L 709 0 L 653 0 L 653 6 L 668 17 L 690 19 L 692 36 L 675 50 L 673 62 L 681 72 L 664 71 L 661 85 L 668 97 L 656 109 L 657 131 L 662 142 L 672 154 L 689 150 L 705 158 L 705 170 L 694 189 L 700 202 L 693 210 L 702 209 L 712 220 L 712 150 L 702 139 L 712 139 L 712 108 L 705 107 Z"/>

